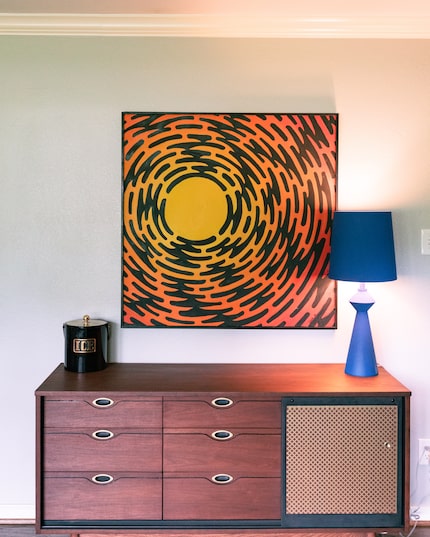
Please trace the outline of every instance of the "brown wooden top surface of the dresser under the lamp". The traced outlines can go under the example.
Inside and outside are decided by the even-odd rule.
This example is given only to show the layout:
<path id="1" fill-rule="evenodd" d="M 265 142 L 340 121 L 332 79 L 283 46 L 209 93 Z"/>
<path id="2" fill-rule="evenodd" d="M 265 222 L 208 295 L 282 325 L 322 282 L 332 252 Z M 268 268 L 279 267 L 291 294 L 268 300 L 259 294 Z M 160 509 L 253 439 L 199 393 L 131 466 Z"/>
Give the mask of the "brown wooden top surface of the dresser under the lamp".
<path id="1" fill-rule="evenodd" d="M 379 367 L 375 377 L 352 377 L 344 364 L 173 364 L 110 363 L 91 373 L 66 371 L 60 364 L 36 390 L 37 395 L 63 392 L 125 392 L 140 395 L 175 393 L 255 393 L 276 395 L 403 395 L 408 388 Z"/>

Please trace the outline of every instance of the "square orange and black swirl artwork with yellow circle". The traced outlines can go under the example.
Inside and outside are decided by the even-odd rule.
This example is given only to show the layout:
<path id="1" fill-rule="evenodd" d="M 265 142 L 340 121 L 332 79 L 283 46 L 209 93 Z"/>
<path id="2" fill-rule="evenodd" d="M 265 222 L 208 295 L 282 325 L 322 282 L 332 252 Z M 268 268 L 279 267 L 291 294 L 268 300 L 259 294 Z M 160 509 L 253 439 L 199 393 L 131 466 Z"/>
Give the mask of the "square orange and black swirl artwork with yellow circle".
<path id="1" fill-rule="evenodd" d="M 123 327 L 336 327 L 337 114 L 122 119 Z"/>

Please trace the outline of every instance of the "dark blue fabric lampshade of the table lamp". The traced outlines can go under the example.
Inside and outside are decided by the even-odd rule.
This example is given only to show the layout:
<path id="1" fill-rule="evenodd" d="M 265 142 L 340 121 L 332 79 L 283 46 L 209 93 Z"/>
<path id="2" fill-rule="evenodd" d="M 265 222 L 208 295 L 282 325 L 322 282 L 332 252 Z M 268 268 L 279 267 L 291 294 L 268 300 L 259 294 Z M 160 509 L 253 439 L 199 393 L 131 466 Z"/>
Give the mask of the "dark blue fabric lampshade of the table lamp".
<path id="1" fill-rule="evenodd" d="M 396 280 L 391 213 L 336 211 L 328 275 L 351 282 Z"/>

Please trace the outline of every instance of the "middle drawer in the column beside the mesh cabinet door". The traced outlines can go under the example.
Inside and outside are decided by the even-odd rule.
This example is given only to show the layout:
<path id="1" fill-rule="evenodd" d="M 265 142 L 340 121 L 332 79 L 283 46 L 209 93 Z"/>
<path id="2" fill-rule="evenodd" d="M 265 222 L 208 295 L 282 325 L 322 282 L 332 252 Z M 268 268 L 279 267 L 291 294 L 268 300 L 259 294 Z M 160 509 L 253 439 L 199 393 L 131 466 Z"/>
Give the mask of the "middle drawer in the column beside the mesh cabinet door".
<path id="1" fill-rule="evenodd" d="M 281 436 L 246 429 L 215 430 L 212 434 L 167 432 L 163 467 L 165 472 L 240 472 L 249 477 L 279 477 Z"/>

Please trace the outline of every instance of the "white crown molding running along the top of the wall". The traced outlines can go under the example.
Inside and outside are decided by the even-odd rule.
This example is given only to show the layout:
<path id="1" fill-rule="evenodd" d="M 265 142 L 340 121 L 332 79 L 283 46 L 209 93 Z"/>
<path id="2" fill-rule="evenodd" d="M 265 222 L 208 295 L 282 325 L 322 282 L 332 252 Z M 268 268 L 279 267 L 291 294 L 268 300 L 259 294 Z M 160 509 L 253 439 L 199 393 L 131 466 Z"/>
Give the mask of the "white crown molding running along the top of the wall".
<path id="1" fill-rule="evenodd" d="M 0 13 L 0 35 L 430 39 L 430 16 Z"/>

